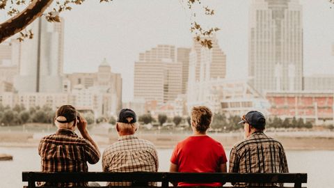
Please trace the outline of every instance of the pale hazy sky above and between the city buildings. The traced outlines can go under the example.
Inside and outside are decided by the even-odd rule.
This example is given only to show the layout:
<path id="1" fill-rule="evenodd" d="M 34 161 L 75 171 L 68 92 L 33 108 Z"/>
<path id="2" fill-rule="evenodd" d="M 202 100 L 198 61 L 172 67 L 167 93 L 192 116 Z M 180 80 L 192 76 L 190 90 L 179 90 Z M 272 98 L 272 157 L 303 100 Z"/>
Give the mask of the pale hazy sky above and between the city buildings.
<path id="1" fill-rule="evenodd" d="M 160 44 L 191 47 L 190 13 L 182 0 L 86 1 L 63 13 L 64 72 L 96 72 L 105 57 L 122 74 L 123 100 L 133 97 L 134 62 L 140 52 Z M 303 6 L 304 74 L 333 74 L 334 5 L 300 0 Z M 217 38 L 227 56 L 228 77 L 247 77 L 250 0 L 209 0 Z"/>

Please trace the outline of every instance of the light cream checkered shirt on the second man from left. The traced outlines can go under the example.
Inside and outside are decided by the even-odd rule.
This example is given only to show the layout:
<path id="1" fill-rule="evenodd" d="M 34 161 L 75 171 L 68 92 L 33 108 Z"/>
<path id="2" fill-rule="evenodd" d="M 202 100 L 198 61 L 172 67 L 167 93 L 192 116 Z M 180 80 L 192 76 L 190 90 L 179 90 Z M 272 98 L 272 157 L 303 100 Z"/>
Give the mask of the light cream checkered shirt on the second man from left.
<path id="1" fill-rule="evenodd" d="M 153 143 L 138 139 L 134 135 L 120 136 L 116 143 L 104 150 L 102 168 L 104 172 L 157 172 L 157 150 Z M 108 182 L 109 186 L 130 186 L 130 182 Z M 149 182 L 149 186 L 156 183 Z"/>

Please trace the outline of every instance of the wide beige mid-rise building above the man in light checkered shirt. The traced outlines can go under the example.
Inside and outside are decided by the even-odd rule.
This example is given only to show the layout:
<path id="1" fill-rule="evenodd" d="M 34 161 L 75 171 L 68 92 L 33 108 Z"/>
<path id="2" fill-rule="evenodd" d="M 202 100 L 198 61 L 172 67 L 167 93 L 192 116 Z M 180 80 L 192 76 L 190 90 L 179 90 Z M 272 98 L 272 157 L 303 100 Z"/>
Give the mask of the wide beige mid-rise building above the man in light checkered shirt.
<path id="1" fill-rule="evenodd" d="M 134 63 L 134 98 L 156 101 L 175 100 L 182 93 L 182 63 L 175 61 L 175 47 L 158 45 L 139 54 Z"/>

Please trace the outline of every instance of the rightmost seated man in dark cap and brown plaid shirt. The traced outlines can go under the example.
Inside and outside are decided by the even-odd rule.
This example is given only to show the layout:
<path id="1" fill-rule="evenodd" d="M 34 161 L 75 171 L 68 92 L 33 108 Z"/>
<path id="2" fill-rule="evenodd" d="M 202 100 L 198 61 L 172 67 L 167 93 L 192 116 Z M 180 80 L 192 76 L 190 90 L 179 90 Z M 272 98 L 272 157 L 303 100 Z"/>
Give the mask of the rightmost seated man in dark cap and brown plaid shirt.
<path id="1" fill-rule="evenodd" d="M 239 123 L 244 124 L 246 139 L 235 144 L 230 152 L 230 173 L 288 173 L 282 144 L 264 134 L 266 119 L 259 111 L 250 111 Z M 282 187 L 283 184 L 237 182 L 235 187 Z"/>

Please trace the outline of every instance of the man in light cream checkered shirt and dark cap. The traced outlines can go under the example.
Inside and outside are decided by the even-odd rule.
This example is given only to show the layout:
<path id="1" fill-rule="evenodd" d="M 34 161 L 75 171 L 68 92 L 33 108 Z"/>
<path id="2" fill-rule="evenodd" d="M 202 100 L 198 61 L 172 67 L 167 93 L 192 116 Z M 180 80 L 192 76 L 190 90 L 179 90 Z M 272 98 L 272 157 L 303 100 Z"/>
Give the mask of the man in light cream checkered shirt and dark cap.
<path id="1" fill-rule="evenodd" d="M 104 172 L 157 172 L 158 156 L 153 143 L 138 139 L 134 133 L 138 129 L 136 113 L 122 109 L 116 123 L 119 138 L 116 143 L 104 150 L 102 169 Z M 108 182 L 109 186 L 130 186 L 131 182 Z M 146 185 L 154 186 L 149 182 Z M 134 185 L 132 185 L 134 186 Z"/>

